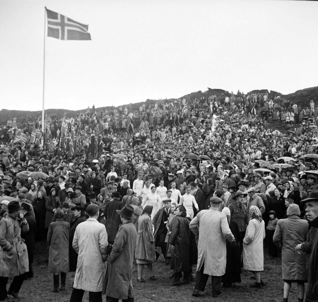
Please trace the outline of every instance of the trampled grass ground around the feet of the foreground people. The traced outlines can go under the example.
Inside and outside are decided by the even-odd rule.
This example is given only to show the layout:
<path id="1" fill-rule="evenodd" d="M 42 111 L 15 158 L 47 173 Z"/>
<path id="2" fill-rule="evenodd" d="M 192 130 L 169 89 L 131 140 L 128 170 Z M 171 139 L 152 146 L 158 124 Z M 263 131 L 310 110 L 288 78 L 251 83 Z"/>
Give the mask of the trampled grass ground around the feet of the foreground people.
<path id="1" fill-rule="evenodd" d="M 236 284 L 232 288 L 222 288 L 222 296 L 212 298 L 211 280 L 209 279 L 205 292 L 200 297 L 192 297 L 194 282 L 180 287 L 170 286 L 172 279 L 169 279 L 172 271 L 169 266 L 163 263 L 163 258 L 160 257 L 158 262 L 154 263 L 154 273 L 157 280 L 149 280 L 148 271 L 144 270 L 145 283 L 137 283 L 137 265 L 134 264 L 133 285 L 135 289 L 135 301 L 137 302 L 155 302 L 155 301 L 266 301 L 278 302 L 283 300 L 283 281 L 281 279 L 281 260 L 280 258 L 272 259 L 267 256 L 265 250 L 264 255 L 264 272 L 262 279 L 266 282 L 266 287 L 260 290 L 250 288 L 249 285 L 255 282 L 251 272 L 243 271 L 241 273 L 242 282 Z M 193 266 L 195 272 L 195 266 Z M 72 292 L 72 282 L 74 272 L 67 273 L 66 291 L 59 293 L 51 293 L 53 288 L 53 277 L 48 273 L 48 251 L 45 243 L 36 243 L 36 254 L 34 260 L 34 278 L 25 280 L 20 296 L 23 301 L 30 302 L 66 302 L 69 301 Z M 195 273 L 193 273 L 195 275 Z M 14 301 L 9 299 L 8 301 Z M 88 301 L 88 293 L 85 293 L 83 301 Z M 106 297 L 103 296 L 103 301 Z M 289 301 L 297 300 L 297 286 L 292 285 Z"/>

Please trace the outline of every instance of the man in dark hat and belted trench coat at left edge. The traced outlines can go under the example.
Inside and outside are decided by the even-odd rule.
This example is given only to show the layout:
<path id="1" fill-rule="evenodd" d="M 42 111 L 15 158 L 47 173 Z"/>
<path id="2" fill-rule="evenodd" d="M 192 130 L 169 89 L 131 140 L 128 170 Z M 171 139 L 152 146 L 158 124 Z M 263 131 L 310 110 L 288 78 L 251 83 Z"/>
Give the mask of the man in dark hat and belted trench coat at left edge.
<path id="1" fill-rule="evenodd" d="M 19 299 L 18 292 L 23 283 L 25 273 L 29 271 L 28 252 L 21 241 L 21 231 L 28 232 L 29 225 L 19 211 L 22 208 L 18 201 L 8 204 L 8 215 L 0 221 L 0 301 L 8 298 L 7 294 Z M 9 291 L 7 283 L 13 278 Z"/>

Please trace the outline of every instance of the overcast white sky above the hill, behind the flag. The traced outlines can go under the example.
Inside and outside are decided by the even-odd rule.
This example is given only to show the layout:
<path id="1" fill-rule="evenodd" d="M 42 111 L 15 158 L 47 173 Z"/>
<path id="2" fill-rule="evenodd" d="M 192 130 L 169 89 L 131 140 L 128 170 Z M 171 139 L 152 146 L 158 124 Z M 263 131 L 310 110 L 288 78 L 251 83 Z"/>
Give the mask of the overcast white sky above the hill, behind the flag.
<path id="1" fill-rule="evenodd" d="M 42 110 L 45 5 L 92 37 L 46 37 L 45 109 L 318 85 L 315 1 L 0 0 L 0 109 Z"/>

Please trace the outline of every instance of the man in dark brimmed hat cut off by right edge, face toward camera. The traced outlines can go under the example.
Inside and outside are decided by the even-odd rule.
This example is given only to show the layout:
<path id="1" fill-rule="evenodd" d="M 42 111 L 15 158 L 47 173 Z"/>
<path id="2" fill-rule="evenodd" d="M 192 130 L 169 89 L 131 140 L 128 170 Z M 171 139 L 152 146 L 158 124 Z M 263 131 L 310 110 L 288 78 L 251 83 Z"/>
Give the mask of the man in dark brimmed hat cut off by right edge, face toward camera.
<path id="1" fill-rule="evenodd" d="M 305 211 L 310 227 L 318 228 L 318 186 L 304 199 Z M 296 246 L 296 251 L 301 245 Z M 308 286 L 305 302 L 318 302 L 318 232 L 313 240 L 308 265 Z"/>

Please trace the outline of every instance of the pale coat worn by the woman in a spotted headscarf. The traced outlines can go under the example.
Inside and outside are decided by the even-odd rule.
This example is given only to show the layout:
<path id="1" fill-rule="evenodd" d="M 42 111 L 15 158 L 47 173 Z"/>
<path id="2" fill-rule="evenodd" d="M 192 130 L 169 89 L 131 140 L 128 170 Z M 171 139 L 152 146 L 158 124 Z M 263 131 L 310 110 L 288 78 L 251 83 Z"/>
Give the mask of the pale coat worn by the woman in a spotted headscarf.
<path id="1" fill-rule="evenodd" d="M 250 220 L 243 239 L 243 268 L 248 271 L 264 270 L 263 239 L 265 238 L 264 220 Z"/>

